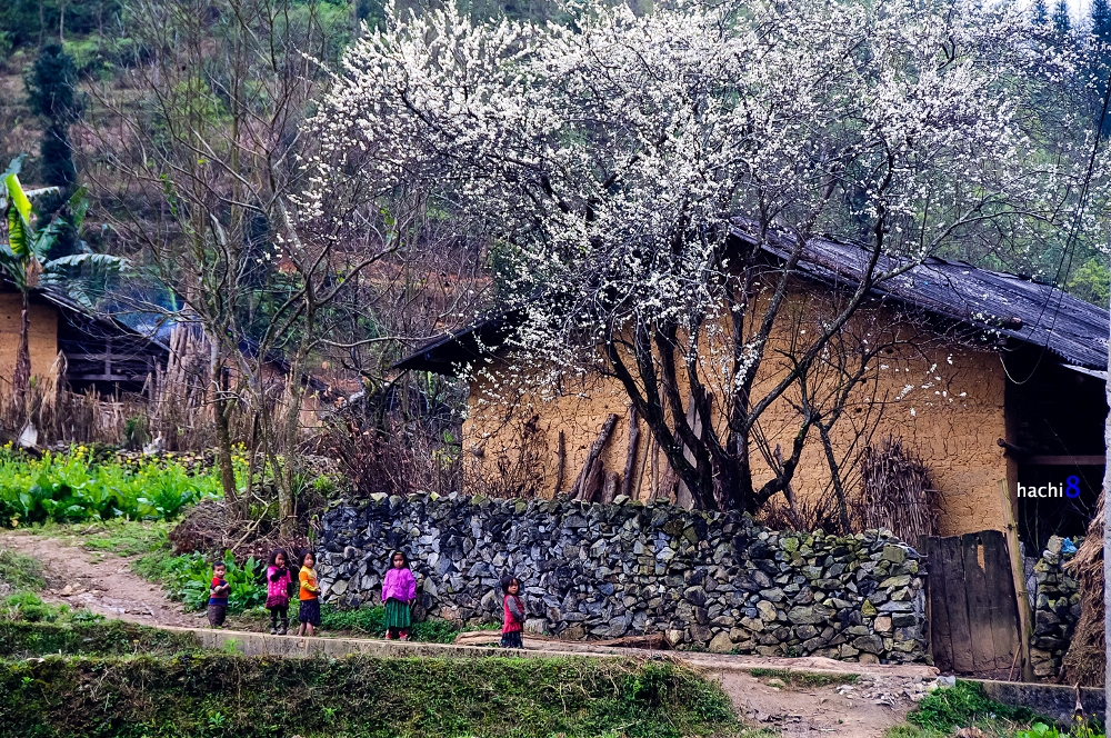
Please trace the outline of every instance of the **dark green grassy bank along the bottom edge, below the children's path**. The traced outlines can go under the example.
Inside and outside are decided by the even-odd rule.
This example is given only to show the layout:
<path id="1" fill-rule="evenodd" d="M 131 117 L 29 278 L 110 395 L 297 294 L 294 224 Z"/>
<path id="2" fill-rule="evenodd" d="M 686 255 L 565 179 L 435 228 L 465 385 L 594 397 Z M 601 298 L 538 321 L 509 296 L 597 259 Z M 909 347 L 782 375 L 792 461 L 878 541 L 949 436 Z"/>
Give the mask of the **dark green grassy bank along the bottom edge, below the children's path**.
<path id="1" fill-rule="evenodd" d="M 715 685 L 669 662 L 51 657 L 0 672 L 0 725 L 62 736 L 738 736 Z"/>

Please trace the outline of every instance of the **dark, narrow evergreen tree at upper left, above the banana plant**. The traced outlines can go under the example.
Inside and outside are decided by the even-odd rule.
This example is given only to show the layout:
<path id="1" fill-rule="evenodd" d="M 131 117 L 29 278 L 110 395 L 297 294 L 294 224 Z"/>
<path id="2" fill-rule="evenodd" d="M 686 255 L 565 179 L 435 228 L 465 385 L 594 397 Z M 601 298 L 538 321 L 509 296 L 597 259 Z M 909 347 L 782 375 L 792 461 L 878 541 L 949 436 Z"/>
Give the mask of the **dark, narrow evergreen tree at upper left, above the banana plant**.
<path id="1" fill-rule="evenodd" d="M 31 111 L 44 123 L 39 148 L 42 180 L 62 190 L 77 183 L 69 138 L 70 123 L 81 113 L 77 81 L 73 58 L 58 43 L 42 48 L 26 81 Z"/>

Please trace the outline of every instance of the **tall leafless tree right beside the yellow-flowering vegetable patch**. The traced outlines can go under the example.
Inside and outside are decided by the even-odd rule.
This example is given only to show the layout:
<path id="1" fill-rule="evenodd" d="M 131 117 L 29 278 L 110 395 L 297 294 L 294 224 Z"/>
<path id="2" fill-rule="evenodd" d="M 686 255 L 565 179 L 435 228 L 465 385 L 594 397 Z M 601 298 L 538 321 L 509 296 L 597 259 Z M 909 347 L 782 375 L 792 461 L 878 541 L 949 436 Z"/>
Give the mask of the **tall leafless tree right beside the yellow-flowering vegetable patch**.
<path id="1" fill-rule="evenodd" d="M 276 245 L 300 187 L 298 126 L 321 78 L 304 56 L 326 46 L 317 11 L 268 0 L 129 4 L 133 64 L 123 89 L 93 87 L 99 104 L 84 129 L 97 151 L 86 169 L 107 218 L 150 276 L 149 290 L 123 297 L 203 328 L 233 508 L 232 415 L 246 403 L 269 420 L 260 367 L 271 347 L 253 323 L 277 301 L 297 303 L 299 290 L 311 291 L 287 273 L 298 272 L 297 255 L 282 261 Z"/>

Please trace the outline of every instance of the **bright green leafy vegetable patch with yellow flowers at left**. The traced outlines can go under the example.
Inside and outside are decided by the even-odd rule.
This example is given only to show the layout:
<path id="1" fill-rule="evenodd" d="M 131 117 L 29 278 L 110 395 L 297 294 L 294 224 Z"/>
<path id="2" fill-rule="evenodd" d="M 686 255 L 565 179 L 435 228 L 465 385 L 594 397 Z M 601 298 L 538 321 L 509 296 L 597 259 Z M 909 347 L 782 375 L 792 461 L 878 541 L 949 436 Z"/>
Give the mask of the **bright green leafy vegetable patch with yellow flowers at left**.
<path id="1" fill-rule="evenodd" d="M 174 460 L 97 461 L 80 446 L 34 459 L 11 445 L 0 448 L 0 526 L 172 520 L 186 506 L 221 495 L 216 469 L 194 476 Z"/>

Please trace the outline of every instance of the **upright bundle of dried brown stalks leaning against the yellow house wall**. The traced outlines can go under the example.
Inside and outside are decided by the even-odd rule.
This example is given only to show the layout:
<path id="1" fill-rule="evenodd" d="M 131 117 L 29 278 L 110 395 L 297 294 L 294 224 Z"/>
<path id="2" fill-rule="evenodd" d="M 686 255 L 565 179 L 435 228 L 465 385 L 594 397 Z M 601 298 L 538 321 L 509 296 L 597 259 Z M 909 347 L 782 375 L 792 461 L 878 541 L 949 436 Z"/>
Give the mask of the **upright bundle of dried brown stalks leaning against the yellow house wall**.
<path id="1" fill-rule="evenodd" d="M 887 528 L 912 545 L 920 536 L 935 535 L 937 490 L 930 483 L 929 469 L 903 449 L 901 439 L 889 436 L 879 448 L 869 446 L 860 463 L 865 528 Z"/>

